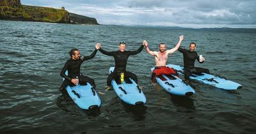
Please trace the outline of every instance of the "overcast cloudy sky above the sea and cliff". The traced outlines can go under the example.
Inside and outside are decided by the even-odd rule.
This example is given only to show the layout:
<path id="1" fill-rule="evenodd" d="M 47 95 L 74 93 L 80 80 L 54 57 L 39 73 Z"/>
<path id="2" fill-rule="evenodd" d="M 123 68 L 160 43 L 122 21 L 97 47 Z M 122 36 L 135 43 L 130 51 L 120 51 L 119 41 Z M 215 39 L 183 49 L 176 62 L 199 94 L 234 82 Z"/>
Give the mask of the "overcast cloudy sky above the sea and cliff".
<path id="1" fill-rule="evenodd" d="M 256 28 L 256 0 L 21 0 L 65 9 L 99 24 Z"/>

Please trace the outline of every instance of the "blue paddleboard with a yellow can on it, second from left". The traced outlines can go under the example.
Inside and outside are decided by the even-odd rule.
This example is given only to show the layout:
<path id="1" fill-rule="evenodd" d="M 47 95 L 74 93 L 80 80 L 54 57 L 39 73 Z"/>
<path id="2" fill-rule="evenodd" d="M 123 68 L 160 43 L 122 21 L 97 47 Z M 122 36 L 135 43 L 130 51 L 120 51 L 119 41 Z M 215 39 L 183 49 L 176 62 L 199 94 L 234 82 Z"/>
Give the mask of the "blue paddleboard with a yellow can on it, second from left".
<path id="1" fill-rule="evenodd" d="M 113 72 L 115 67 L 109 68 L 109 74 Z M 125 103 L 128 103 L 130 105 L 141 105 L 145 104 L 147 99 L 143 92 L 141 91 L 140 87 L 132 80 L 132 78 L 129 78 L 131 83 L 123 82 L 122 84 L 117 84 L 116 80 L 113 79 L 111 81 L 111 85 L 116 93 L 116 95 Z"/>

